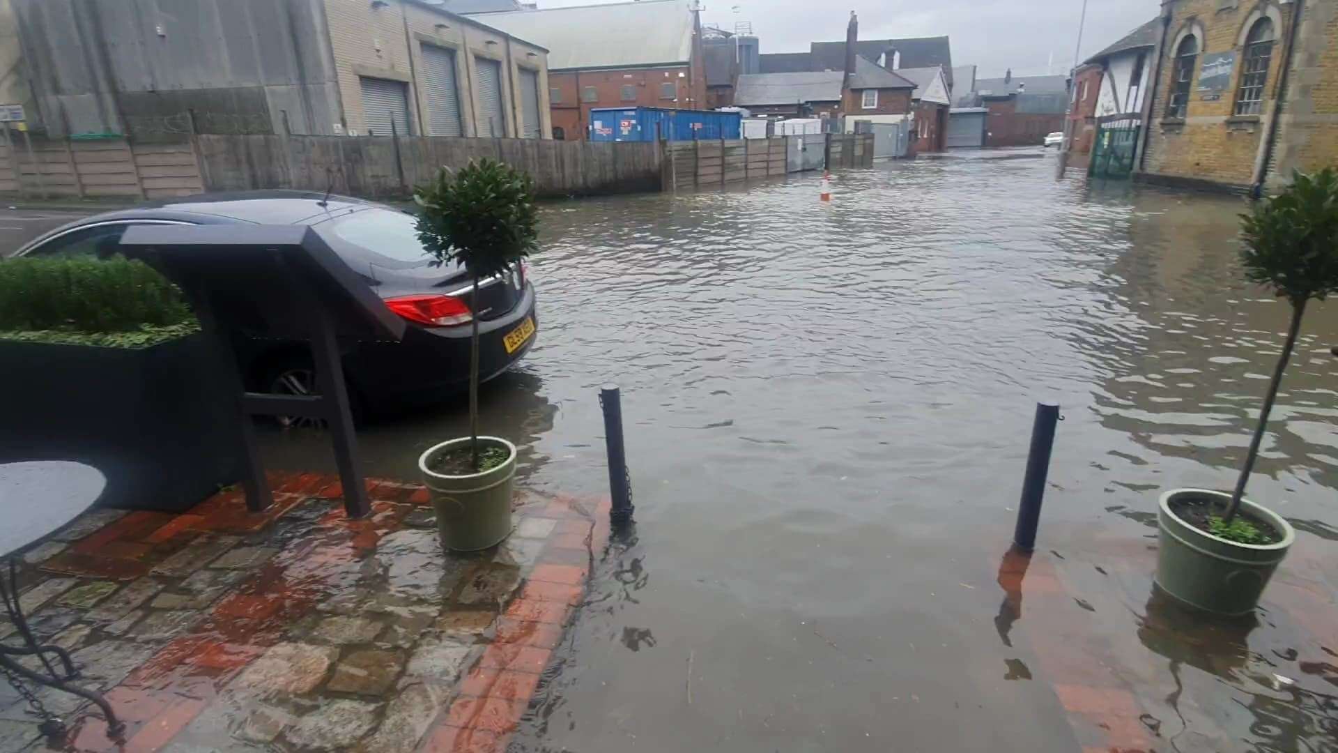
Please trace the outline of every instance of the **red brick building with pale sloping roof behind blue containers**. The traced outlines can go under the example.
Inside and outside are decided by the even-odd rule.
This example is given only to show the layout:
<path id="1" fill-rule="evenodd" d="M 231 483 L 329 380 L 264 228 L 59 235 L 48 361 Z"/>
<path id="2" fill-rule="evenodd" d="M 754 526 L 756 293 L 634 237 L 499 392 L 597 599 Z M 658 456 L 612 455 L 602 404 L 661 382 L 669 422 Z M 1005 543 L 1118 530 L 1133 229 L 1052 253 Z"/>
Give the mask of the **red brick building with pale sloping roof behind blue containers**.
<path id="1" fill-rule="evenodd" d="M 595 107 L 706 106 L 701 23 L 686 0 L 471 15 L 550 50 L 553 135 L 585 139 Z"/>

